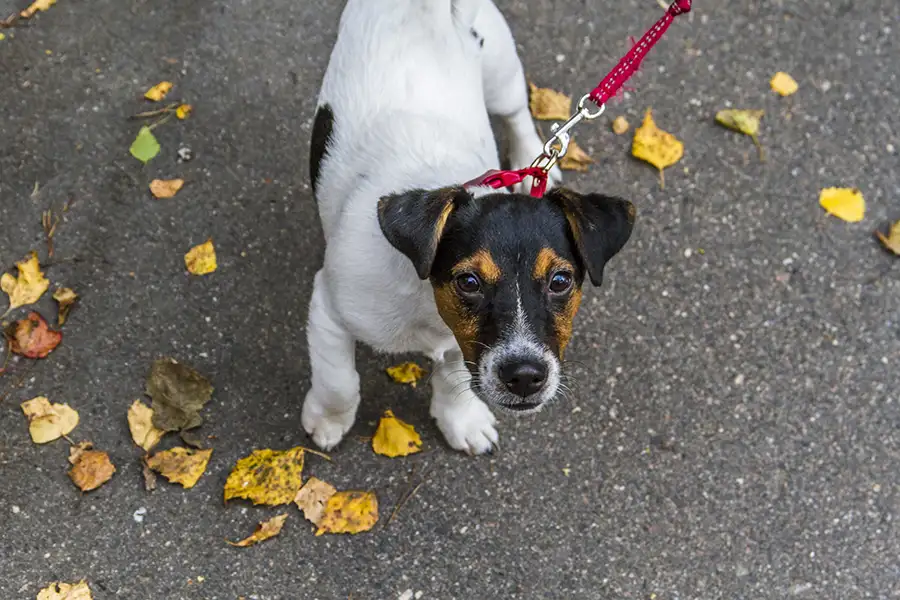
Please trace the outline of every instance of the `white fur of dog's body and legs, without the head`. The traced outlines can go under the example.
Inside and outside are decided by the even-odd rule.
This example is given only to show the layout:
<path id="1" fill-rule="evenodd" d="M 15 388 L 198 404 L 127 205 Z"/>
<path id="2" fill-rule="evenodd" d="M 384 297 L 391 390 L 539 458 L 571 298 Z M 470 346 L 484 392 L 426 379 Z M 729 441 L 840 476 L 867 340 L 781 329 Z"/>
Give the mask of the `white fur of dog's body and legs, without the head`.
<path id="1" fill-rule="evenodd" d="M 540 153 L 509 27 L 490 0 L 348 0 L 319 95 L 325 104 L 335 116 L 317 190 L 327 245 L 310 305 L 303 426 L 326 449 L 349 430 L 362 341 L 428 355 L 431 414 L 447 442 L 486 452 L 498 439 L 494 416 L 470 389 L 431 285 L 381 233 L 376 205 L 389 193 L 499 168 L 489 114 L 507 126 L 513 168 Z"/>

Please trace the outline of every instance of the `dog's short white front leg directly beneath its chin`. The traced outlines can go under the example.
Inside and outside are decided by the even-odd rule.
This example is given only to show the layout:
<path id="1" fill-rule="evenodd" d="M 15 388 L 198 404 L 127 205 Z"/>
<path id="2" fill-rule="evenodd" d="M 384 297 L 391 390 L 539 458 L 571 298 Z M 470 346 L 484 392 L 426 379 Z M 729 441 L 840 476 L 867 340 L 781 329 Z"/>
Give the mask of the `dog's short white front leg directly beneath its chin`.
<path id="1" fill-rule="evenodd" d="M 451 447 L 483 454 L 497 444 L 497 419 L 472 391 L 472 384 L 472 376 L 458 351 L 436 362 L 431 378 L 431 416 Z"/>

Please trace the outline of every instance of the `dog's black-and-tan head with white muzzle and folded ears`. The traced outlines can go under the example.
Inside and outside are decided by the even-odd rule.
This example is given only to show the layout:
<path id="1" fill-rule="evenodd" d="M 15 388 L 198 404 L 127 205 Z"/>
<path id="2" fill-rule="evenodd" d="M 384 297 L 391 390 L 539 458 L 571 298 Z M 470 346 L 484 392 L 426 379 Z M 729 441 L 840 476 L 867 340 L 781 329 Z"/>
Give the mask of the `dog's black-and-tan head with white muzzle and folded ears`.
<path id="1" fill-rule="evenodd" d="M 567 189 L 475 198 L 455 187 L 386 196 L 378 220 L 431 280 L 473 390 L 525 413 L 556 395 L 582 283 L 600 285 L 631 235 L 634 206 Z"/>

